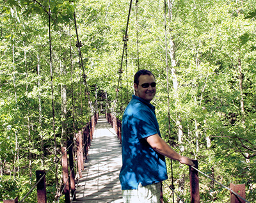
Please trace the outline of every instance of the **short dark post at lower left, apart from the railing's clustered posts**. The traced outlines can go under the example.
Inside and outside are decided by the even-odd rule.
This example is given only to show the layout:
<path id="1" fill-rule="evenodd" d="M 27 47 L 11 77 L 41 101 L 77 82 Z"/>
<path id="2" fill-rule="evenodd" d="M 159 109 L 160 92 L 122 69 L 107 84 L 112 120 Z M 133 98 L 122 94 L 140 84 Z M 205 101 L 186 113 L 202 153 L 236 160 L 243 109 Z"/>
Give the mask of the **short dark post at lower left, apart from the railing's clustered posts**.
<path id="1" fill-rule="evenodd" d="M 40 178 L 45 174 L 45 170 L 36 170 L 36 182 L 40 180 Z M 46 184 L 45 184 L 45 176 L 42 180 L 37 184 L 37 202 L 38 203 L 46 203 Z"/>

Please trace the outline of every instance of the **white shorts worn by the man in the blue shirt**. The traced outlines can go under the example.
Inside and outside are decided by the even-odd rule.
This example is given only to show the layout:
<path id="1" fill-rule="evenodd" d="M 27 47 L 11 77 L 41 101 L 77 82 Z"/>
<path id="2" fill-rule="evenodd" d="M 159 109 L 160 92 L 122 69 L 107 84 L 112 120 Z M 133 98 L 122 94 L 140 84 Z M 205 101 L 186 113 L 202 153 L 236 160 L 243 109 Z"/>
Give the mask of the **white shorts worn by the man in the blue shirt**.
<path id="1" fill-rule="evenodd" d="M 160 203 L 161 183 L 139 184 L 138 190 L 122 190 L 124 203 Z"/>

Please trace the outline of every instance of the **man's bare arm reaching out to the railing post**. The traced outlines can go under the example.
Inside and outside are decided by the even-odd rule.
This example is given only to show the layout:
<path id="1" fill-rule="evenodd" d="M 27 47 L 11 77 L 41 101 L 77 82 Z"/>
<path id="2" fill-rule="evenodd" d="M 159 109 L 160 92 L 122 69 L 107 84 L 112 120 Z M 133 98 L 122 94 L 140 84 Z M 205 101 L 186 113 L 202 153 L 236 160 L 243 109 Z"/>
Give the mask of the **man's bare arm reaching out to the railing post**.
<path id="1" fill-rule="evenodd" d="M 163 154 L 173 160 L 177 160 L 182 164 L 194 165 L 191 158 L 182 156 L 176 151 L 174 151 L 158 134 L 151 135 L 145 138 L 148 144 L 155 150 L 157 153 Z"/>

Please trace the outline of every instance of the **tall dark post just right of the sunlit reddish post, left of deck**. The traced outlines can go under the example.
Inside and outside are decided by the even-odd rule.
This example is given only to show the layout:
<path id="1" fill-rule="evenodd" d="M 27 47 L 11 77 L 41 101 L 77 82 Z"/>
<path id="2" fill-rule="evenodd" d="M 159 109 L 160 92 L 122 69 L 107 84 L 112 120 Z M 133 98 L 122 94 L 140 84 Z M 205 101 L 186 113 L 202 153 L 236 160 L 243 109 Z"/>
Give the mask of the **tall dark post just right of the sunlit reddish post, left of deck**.
<path id="1" fill-rule="evenodd" d="M 72 142 L 68 141 L 68 159 L 69 159 L 69 173 L 70 173 L 70 188 L 72 199 L 76 200 L 76 183 L 75 183 L 75 169 L 74 169 L 74 156 L 73 156 L 73 146 Z"/>

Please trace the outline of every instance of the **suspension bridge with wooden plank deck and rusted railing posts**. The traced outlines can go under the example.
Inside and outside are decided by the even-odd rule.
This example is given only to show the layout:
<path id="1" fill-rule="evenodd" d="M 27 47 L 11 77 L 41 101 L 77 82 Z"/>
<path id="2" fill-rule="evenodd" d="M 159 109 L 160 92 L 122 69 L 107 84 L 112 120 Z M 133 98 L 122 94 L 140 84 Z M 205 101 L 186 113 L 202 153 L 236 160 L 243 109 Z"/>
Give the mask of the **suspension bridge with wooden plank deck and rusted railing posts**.
<path id="1" fill-rule="evenodd" d="M 61 157 L 52 164 L 52 167 L 61 160 L 63 166 L 63 187 L 58 199 L 54 202 L 60 202 L 60 197 L 65 197 L 65 202 L 70 203 L 122 203 L 122 190 L 119 183 L 119 172 L 122 166 L 121 156 L 121 122 L 112 114 L 106 116 L 94 115 L 92 121 L 86 124 L 83 132 L 77 133 L 77 137 L 72 144 L 76 144 L 76 156 L 73 157 L 72 144 L 63 148 Z M 71 152 L 71 153 L 70 153 Z M 69 164 L 67 162 L 67 153 L 69 155 Z M 76 162 L 76 174 L 74 163 Z M 244 184 L 232 184 L 230 188 L 219 183 L 204 172 L 198 170 L 197 161 L 195 167 L 189 167 L 189 181 L 191 190 L 191 202 L 199 203 L 199 179 L 198 174 L 202 174 L 211 179 L 221 187 L 230 192 L 230 203 L 248 202 L 245 199 Z M 69 172 L 68 172 L 69 165 Z M 28 202 L 26 198 L 37 187 L 37 199 L 39 203 L 47 202 L 45 176 L 47 172 L 36 171 L 36 184 L 19 201 L 18 197 L 13 200 L 3 200 L 3 203 L 21 203 Z M 76 177 L 76 179 L 75 179 Z M 164 183 L 165 186 L 166 183 Z M 166 184 L 167 185 L 167 184 Z M 170 188 L 173 195 L 179 195 L 172 186 Z M 180 197 L 179 197 L 180 199 Z M 26 201 L 25 201 L 26 200 Z M 182 199 L 180 199 L 184 202 Z M 163 202 L 163 198 L 161 199 Z M 170 201 L 169 201 L 170 202 Z M 174 201 L 173 201 L 174 202 Z"/>

